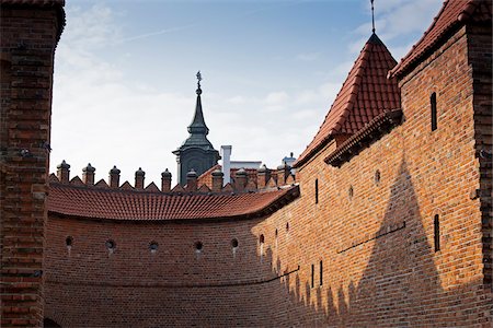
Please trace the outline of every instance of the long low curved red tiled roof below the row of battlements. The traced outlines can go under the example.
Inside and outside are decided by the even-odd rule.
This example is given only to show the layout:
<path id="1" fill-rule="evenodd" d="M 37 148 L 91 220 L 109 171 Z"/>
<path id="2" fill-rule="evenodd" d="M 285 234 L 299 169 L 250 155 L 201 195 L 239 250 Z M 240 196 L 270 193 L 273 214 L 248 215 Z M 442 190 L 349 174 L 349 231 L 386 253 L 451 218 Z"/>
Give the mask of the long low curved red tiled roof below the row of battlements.
<path id="1" fill-rule="evenodd" d="M 51 183 L 48 211 L 77 218 L 133 221 L 245 219 L 274 211 L 298 195 L 298 186 L 265 192 L 173 195 Z"/>

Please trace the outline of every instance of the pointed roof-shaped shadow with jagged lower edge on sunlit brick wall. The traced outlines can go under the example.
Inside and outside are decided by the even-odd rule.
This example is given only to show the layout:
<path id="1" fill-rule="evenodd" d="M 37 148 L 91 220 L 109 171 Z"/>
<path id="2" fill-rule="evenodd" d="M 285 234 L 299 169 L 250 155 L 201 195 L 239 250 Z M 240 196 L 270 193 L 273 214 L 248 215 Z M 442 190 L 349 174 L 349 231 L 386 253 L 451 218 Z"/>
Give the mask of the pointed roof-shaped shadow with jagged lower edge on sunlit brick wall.
<path id="1" fill-rule="evenodd" d="M 421 216 L 404 159 L 390 191 L 392 202 L 380 230 L 369 236 L 375 244 L 362 279 L 311 288 L 296 273 L 286 277 L 277 291 L 287 294 L 286 309 L 278 312 L 272 326 L 451 327 L 491 323 L 491 293 L 481 281 L 442 288 L 435 266 L 440 254 L 435 250 L 433 232 L 426 234 L 423 224 L 426 220 L 433 230 L 434 218 Z M 365 241 L 360 243 L 364 247 Z M 340 256 L 358 251 L 359 245 Z M 277 259 L 276 270 L 280 267 Z"/>

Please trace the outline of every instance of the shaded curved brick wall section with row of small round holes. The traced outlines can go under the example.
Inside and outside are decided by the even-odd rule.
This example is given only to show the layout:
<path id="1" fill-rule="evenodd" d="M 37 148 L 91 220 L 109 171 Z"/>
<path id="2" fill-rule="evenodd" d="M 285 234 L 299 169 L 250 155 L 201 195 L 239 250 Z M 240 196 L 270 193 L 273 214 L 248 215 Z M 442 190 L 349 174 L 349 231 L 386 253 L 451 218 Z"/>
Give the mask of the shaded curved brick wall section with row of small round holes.
<path id="1" fill-rule="evenodd" d="M 262 220 L 114 223 L 50 215 L 46 317 L 62 327 L 268 326 L 289 298 L 279 289 L 285 278 L 252 234 Z"/>

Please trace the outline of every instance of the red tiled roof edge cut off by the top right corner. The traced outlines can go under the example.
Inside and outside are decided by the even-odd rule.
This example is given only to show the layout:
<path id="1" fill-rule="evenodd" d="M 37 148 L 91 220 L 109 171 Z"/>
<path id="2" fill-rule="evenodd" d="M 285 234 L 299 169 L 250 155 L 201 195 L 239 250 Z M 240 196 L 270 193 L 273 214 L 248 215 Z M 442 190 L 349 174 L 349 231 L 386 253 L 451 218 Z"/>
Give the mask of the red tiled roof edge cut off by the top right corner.
<path id="1" fill-rule="evenodd" d="M 420 60 L 457 26 L 461 26 L 468 21 L 491 22 L 492 3 L 491 0 L 447 0 L 444 2 L 438 15 L 432 25 L 424 33 L 423 37 L 413 48 L 401 59 L 398 66 L 391 71 L 392 77 L 402 75 L 413 65 Z"/>

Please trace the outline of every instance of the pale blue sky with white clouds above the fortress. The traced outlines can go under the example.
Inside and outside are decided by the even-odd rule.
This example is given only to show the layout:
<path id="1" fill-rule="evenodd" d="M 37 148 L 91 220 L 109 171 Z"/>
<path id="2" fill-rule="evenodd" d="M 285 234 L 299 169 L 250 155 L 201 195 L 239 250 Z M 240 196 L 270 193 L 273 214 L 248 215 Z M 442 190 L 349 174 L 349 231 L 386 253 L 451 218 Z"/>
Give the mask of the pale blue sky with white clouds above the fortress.
<path id="1" fill-rule="evenodd" d="M 375 0 L 376 33 L 395 60 L 442 0 Z M 95 179 L 146 172 L 160 186 L 188 137 L 202 72 L 208 139 L 231 160 L 276 167 L 317 133 L 371 35 L 369 0 L 67 0 L 55 54 L 50 172 Z"/>

